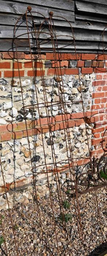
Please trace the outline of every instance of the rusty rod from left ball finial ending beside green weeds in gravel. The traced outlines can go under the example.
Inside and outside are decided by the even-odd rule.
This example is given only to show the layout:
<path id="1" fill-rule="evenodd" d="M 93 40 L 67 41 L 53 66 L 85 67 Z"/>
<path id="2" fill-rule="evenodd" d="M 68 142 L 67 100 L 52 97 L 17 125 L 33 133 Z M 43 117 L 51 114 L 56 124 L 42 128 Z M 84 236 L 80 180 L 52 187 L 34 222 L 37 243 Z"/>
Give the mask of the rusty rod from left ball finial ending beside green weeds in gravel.
<path id="1" fill-rule="evenodd" d="M 31 18 L 32 18 L 32 20 L 33 20 L 32 14 L 31 14 Z M 33 20 L 33 22 L 34 22 L 34 20 Z M 38 52 L 40 53 L 40 54 L 39 54 L 39 63 L 42 63 L 41 48 L 40 48 L 40 46 L 38 46 L 38 39 L 37 39 L 37 32 L 36 32 L 35 24 L 34 24 L 34 28 L 35 28 L 35 34 L 36 34 L 36 41 L 37 41 Z M 40 70 L 41 70 L 41 79 L 42 79 L 44 100 L 45 100 L 45 97 L 46 97 L 46 100 L 45 100 L 45 108 L 46 108 L 46 104 L 47 104 L 48 102 L 47 102 L 47 95 L 46 95 L 46 90 L 45 90 L 45 80 L 44 80 L 42 65 L 40 65 Z M 48 109 L 48 108 L 46 108 L 46 114 L 47 114 L 47 111 L 48 111 L 48 115 L 47 115 L 47 116 L 49 116 L 49 109 Z M 52 144 L 53 144 L 53 136 L 52 136 L 52 131 L 51 131 L 50 117 L 49 117 L 49 118 L 47 117 L 47 123 L 48 123 L 48 127 L 49 127 L 49 137 L 50 137 L 50 144 L 51 144 L 51 152 L 52 152 L 53 164 L 54 164 L 54 169 L 55 169 L 55 166 L 56 166 L 57 163 L 56 163 L 56 157 L 55 157 L 54 146 L 52 145 Z M 51 134 L 50 134 L 50 133 L 51 133 Z M 51 139 L 52 139 L 52 143 L 51 143 Z M 54 155 L 53 155 L 53 151 L 54 151 Z M 55 162 L 54 162 L 54 160 L 55 160 Z M 48 173 L 48 172 L 47 172 L 47 173 Z M 56 172 L 55 172 L 55 176 L 56 176 Z M 58 177 L 58 183 L 57 183 L 57 177 Z M 60 195 L 59 195 L 59 191 L 58 191 L 58 199 L 59 199 L 59 203 L 60 203 L 61 215 L 63 215 L 63 218 L 64 218 L 64 209 L 63 209 L 63 204 L 62 204 L 62 196 L 61 196 L 61 188 L 60 188 L 60 182 L 59 182 L 58 171 L 57 171 L 57 176 L 56 176 L 56 184 L 57 184 L 57 191 L 58 191 L 58 186 L 59 186 L 59 189 L 60 189 Z M 61 197 L 61 202 L 60 202 L 60 197 Z M 64 218 L 64 224 L 63 224 L 63 220 L 62 220 L 62 225 L 63 225 L 63 228 L 64 228 L 64 226 L 65 226 L 65 229 L 66 229 L 65 218 Z"/>

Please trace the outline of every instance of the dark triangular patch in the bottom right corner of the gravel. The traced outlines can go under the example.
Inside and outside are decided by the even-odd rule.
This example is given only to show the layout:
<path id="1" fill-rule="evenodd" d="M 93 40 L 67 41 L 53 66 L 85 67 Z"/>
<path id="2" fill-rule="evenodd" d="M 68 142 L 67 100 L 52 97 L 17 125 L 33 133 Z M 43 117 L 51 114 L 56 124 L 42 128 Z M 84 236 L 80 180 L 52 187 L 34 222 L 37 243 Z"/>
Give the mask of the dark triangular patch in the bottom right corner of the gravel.
<path id="1" fill-rule="evenodd" d="M 104 253 L 105 252 L 105 253 Z M 107 242 L 96 247 L 91 253 L 87 256 L 104 256 L 107 255 Z"/>

